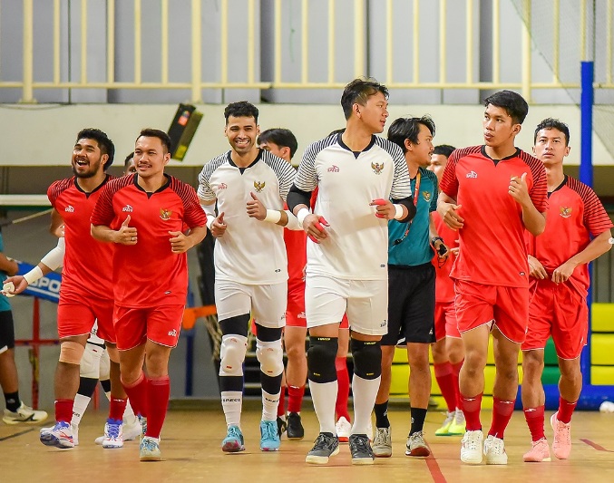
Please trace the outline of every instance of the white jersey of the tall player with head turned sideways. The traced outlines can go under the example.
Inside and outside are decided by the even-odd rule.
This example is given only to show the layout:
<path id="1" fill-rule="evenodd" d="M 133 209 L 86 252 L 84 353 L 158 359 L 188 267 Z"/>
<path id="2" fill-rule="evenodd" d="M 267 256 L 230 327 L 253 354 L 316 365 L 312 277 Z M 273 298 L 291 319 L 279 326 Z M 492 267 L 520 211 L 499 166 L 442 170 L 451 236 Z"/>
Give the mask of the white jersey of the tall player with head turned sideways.
<path id="1" fill-rule="evenodd" d="M 320 244 L 307 239 L 307 274 L 353 280 L 388 276 L 388 222 L 375 217 L 376 198 L 411 195 L 403 151 L 374 136 L 361 152 L 353 152 L 341 135 L 307 147 L 295 184 L 317 192 L 314 213 L 325 217 L 328 237 Z"/>

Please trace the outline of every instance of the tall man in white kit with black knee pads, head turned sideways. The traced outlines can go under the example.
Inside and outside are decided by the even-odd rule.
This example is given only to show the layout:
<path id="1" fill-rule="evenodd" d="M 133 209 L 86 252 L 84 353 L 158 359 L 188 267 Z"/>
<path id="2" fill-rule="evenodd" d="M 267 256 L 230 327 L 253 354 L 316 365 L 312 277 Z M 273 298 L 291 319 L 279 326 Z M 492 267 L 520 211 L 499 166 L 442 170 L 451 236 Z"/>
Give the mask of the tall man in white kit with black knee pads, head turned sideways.
<path id="1" fill-rule="evenodd" d="M 403 152 L 374 135 L 384 130 L 387 98 L 386 87 L 374 80 L 347 84 L 341 97 L 346 130 L 307 148 L 288 195 L 288 208 L 309 238 L 307 368 L 320 434 L 307 463 L 326 464 L 339 451 L 335 356 L 344 313 L 354 358 L 352 463 L 373 464 L 375 458 L 366 432 L 381 375 L 379 341 L 387 332 L 387 220 L 408 221 L 415 213 Z"/>

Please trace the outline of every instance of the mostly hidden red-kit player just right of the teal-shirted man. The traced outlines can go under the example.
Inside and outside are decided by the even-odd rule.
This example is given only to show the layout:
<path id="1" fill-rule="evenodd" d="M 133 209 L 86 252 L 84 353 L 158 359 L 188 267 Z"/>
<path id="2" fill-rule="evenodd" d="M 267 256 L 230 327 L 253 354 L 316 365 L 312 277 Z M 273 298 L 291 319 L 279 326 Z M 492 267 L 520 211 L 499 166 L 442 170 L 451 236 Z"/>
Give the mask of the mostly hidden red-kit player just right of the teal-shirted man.
<path id="1" fill-rule="evenodd" d="M 452 146 L 441 144 L 435 146 L 429 167 L 437 179 L 442 179 L 443 169 L 448 158 L 453 153 Z M 458 247 L 456 240 L 458 234 L 443 223 L 439 213 L 434 212 L 433 221 L 437 233 L 443 238 L 443 244 L 450 247 L 450 252 L 456 256 Z M 464 416 L 461 410 L 460 394 L 458 389 L 458 374 L 463 366 L 464 348 L 461 333 L 456 324 L 456 309 L 454 308 L 454 283 L 450 278 L 453 261 L 443 261 L 434 256 L 433 265 L 436 269 L 435 281 L 435 339 L 431 345 L 435 379 L 442 391 L 447 412 L 443 425 L 435 430 L 435 436 L 453 436 L 464 434 Z"/>

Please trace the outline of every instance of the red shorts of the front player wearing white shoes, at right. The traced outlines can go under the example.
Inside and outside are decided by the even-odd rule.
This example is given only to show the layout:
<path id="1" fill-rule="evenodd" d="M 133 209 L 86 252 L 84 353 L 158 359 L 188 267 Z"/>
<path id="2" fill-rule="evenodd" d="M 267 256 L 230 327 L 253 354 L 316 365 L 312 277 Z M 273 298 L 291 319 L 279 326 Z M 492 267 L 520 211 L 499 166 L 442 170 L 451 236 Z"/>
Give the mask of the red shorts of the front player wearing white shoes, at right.
<path id="1" fill-rule="evenodd" d="M 454 305 L 460 333 L 494 324 L 514 343 L 523 343 L 529 320 L 529 289 L 454 281 Z"/>

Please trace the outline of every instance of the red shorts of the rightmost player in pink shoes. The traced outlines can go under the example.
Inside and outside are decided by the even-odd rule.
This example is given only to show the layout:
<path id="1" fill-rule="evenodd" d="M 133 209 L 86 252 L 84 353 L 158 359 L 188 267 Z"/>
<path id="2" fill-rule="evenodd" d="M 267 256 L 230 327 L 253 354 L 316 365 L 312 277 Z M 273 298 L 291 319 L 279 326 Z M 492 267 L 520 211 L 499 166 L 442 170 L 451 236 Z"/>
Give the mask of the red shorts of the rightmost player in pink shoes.
<path id="1" fill-rule="evenodd" d="M 576 359 L 589 335 L 589 306 L 570 284 L 540 280 L 531 285 L 529 329 L 522 351 L 543 349 L 552 336 L 560 359 Z"/>

